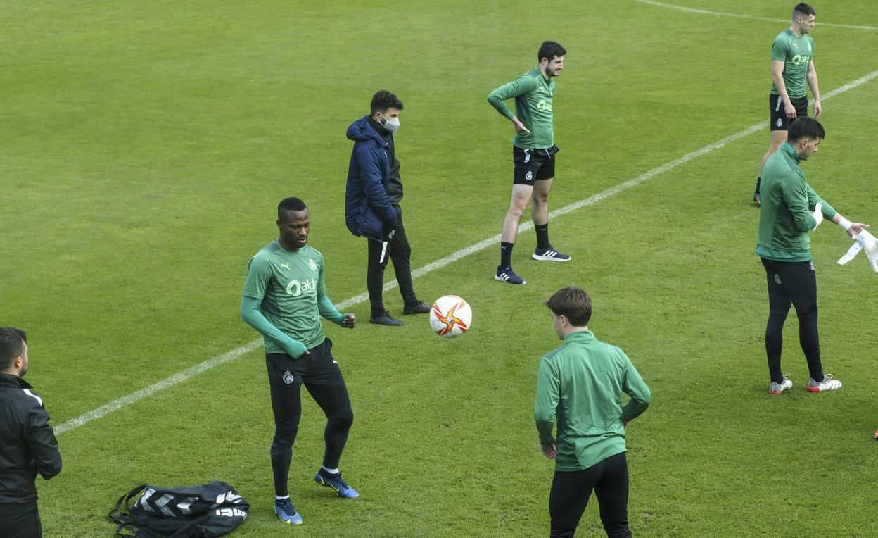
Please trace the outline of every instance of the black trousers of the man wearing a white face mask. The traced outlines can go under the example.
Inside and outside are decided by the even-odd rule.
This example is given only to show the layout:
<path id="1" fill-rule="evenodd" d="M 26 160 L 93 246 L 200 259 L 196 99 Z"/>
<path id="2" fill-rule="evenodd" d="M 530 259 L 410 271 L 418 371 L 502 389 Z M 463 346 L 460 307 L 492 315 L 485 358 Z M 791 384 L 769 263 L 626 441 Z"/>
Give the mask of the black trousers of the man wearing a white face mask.
<path id="1" fill-rule="evenodd" d="M 406 228 L 402 224 L 402 209 L 396 209 L 396 232 L 387 243 L 384 260 L 381 259 L 381 251 L 384 244 L 369 239 L 369 265 L 366 269 L 366 289 L 369 290 L 369 302 L 371 303 L 372 315 L 384 314 L 384 270 L 389 260 L 393 260 L 393 273 L 396 273 L 396 281 L 399 282 L 399 293 L 406 306 L 418 303 L 418 297 L 414 294 L 412 286 L 412 247 L 408 244 Z"/>

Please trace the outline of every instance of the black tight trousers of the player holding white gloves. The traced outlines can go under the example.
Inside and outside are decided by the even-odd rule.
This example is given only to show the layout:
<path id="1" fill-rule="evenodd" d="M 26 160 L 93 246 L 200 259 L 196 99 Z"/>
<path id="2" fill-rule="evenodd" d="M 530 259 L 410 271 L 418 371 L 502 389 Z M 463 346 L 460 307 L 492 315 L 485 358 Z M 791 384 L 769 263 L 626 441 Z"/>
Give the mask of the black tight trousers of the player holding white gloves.
<path id="1" fill-rule="evenodd" d="M 820 338 L 817 334 L 817 274 L 814 265 L 806 262 L 781 262 L 762 259 L 768 282 L 768 324 L 766 324 L 766 355 L 768 373 L 776 383 L 783 382 L 781 351 L 783 324 L 790 305 L 799 317 L 799 345 L 808 361 L 808 371 L 815 381 L 823 381 L 820 362 Z"/>

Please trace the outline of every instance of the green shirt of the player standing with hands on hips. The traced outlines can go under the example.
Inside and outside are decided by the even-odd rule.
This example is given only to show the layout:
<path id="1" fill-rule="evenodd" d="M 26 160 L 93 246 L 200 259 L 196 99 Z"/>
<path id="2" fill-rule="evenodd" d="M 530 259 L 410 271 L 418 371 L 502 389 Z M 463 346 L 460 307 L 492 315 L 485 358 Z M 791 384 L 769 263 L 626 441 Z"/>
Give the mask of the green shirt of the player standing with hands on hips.
<path id="1" fill-rule="evenodd" d="M 513 113 L 504 101 L 515 98 L 515 112 L 529 133 L 522 131 L 515 135 L 512 144 L 522 149 L 549 149 L 555 145 L 555 131 L 552 125 L 551 99 L 555 92 L 555 81 L 546 80 L 539 66 L 530 69 L 508 84 L 488 94 L 488 103 L 497 109 L 507 120 Z"/>

